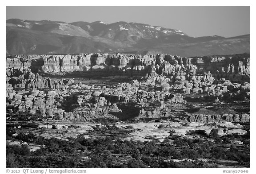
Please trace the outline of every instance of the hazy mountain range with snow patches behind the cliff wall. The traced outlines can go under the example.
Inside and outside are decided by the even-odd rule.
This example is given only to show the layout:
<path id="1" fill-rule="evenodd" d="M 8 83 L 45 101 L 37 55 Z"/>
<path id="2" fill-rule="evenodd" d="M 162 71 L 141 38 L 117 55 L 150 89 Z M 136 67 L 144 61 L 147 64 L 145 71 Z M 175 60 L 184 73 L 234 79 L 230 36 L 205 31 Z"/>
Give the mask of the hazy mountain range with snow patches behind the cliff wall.
<path id="1" fill-rule="evenodd" d="M 180 56 L 250 53 L 250 35 L 190 37 L 143 23 L 6 20 L 6 54 L 161 52 Z"/>

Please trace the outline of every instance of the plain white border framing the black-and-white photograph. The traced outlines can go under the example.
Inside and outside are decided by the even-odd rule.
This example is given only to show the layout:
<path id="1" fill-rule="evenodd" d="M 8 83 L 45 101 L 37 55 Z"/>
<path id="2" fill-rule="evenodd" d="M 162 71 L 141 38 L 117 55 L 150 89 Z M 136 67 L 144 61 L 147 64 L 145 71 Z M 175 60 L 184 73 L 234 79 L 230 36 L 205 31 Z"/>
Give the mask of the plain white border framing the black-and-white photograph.
<path id="1" fill-rule="evenodd" d="M 1 6 L 0 6 L 0 12 L 2 13 L 0 15 L 1 20 L 1 38 L 5 38 L 5 6 L 39 6 L 39 5 L 52 5 L 52 6 L 58 6 L 58 5 L 63 5 L 63 6 L 116 6 L 116 5 L 120 5 L 120 6 L 127 6 L 127 5 L 133 5 L 133 6 L 162 6 L 162 5 L 170 5 L 170 6 L 251 6 L 251 31 L 255 31 L 255 19 L 254 16 L 255 15 L 255 3 L 253 0 L 212 0 L 211 2 L 207 1 L 207 0 L 176 0 L 176 1 L 166 1 L 166 0 L 157 0 L 157 1 L 146 1 L 146 0 L 127 0 L 127 1 L 121 1 L 121 0 L 94 0 L 94 1 L 87 1 L 87 0 L 72 0 L 72 1 L 61 1 L 61 0 L 43 0 L 43 2 L 39 2 L 39 1 L 35 1 L 35 0 L 5 0 L 4 2 L 1 2 Z M 74 12 L 75 13 L 75 12 Z M 251 47 L 254 48 L 255 46 L 255 35 L 252 32 L 251 33 Z M 0 46 L 0 53 L 1 53 L 1 57 L 2 59 L 4 59 L 5 57 L 5 39 L 2 39 L 1 41 L 1 46 Z M 252 125 L 255 123 L 255 118 L 254 118 L 254 113 L 255 113 L 255 92 L 253 89 L 255 89 L 255 70 L 254 70 L 254 65 L 256 65 L 255 62 L 255 51 L 254 49 L 251 49 L 251 74 L 252 74 L 252 81 L 251 81 L 251 123 Z M 0 131 L 1 131 L 1 143 L 0 143 L 0 147 L 1 147 L 1 159 L 0 159 L 0 164 L 1 164 L 1 173 L 5 173 L 5 101 L 4 101 L 4 89 L 5 89 L 5 85 L 4 85 L 4 78 L 5 78 L 5 69 L 4 69 L 4 60 L 2 60 L 2 63 L 0 64 L 1 68 L 0 70 L 3 71 L 0 74 L 0 81 L 1 84 L 0 88 L 1 88 L 1 117 L 0 117 L 0 122 L 1 122 L 1 126 L 0 126 Z M 251 137 L 251 169 L 249 170 L 249 173 L 253 173 L 253 171 L 255 171 L 255 165 L 253 162 L 253 157 L 255 157 L 255 150 L 253 147 L 255 147 L 255 138 L 254 138 L 254 133 L 255 133 L 255 129 L 252 127 L 252 137 Z M 232 170 L 232 169 L 230 169 Z M 247 169 L 246 169 L 247 170 Z M 156 172 L 163 172 L 163 173 L 196 173 L 196 174 L 220 174 L 223 173 L 222 172 L 223 169 L 88 169 L 87 173 L 130 173 L 130 172 L 135 172 L 135 173 L 139 173 L 139 172 L 146 172 L 146 173 L 156 173 Z M 254 172 L 255 173 L 255 172 Z"/>

